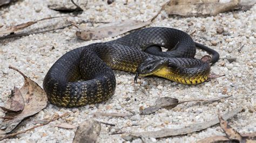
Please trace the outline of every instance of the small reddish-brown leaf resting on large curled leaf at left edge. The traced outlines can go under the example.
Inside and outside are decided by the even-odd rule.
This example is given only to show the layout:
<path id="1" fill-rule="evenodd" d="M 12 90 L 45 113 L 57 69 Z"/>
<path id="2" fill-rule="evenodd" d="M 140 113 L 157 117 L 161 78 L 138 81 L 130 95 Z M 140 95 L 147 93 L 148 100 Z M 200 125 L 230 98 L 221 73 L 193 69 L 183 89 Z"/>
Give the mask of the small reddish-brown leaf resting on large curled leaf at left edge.
<path id="1" fill-rule="evenodd" d="M 11 90 L 11 98 L 5 103 L 5 107 L 1 107 L 6 112 L 18 112 L 24 109 L 24 99 L 21 91 L 17 87 Z"/>

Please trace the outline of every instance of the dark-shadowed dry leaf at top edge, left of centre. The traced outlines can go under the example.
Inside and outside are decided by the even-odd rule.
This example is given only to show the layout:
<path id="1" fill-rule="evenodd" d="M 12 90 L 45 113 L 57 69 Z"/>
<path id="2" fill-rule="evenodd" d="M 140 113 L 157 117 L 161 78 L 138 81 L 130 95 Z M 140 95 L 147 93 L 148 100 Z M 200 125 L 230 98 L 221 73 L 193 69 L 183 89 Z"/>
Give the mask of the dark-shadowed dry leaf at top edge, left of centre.
<path id="1" fill-rule="evenodd" d="M 66 1 L 50 1 L 48 8 L 60 12 L 73 12 L 73 11 L 83 11 L 86 9 L 87 0 L 66 0 Z"/>

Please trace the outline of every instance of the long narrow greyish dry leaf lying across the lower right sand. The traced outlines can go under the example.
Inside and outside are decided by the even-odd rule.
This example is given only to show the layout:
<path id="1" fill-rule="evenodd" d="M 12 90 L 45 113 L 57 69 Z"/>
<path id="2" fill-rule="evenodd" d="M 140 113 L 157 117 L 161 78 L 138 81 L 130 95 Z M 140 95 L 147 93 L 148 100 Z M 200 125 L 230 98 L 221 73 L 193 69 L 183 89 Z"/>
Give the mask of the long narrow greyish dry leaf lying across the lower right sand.
<path id="1" fill-rule="evenodd" d="M 238 112 L 240 112 L 242 108 L 236 108 L 232 110 L 231 112 L 225 113 L 223 116 L 224 119 L 229 119 L 236 115 Z M 183 135 L 193 132 L 198 132 L 201 130 L 204 130 L 208 127 L 211 127 L 213 125 L 216 125 L 219 123 L 219 119 L 216 117 L 210 121 L 205 121 L 203 123 L 197 123 L 192 124 L 184 128 L 178 128 L 178 129 L 171 129 L 171 128 L 165 128 L 159 131 L 150 131 L 150 132 L 138 132 L 138 133 L 129 133 L 127 135 L 131 135 L 134 137 L 143 137 L 143 138 L 164 138 L 164 137 L 171 137 L 176 135 Z M 127 135 L 123 137 L 127 137 Z M 125 138 L 124 138 L 125 139 Z"/>

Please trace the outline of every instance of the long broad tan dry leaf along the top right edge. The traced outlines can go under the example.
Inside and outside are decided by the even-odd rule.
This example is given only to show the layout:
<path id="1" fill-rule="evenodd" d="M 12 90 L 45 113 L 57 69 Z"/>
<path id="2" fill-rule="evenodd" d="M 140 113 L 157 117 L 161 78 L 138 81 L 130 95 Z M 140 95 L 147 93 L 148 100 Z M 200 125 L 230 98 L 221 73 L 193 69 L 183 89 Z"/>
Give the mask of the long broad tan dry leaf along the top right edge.
<path id="1" fill-rule="evenodd" d="M 170 1 L 166 6 L 166 11 L 169 15 L 180 16 L 215 16 L 218 13 L 231 11 L 234 9 L 250 9 L 255 4 L 254 0 L 174 0 Z"/>

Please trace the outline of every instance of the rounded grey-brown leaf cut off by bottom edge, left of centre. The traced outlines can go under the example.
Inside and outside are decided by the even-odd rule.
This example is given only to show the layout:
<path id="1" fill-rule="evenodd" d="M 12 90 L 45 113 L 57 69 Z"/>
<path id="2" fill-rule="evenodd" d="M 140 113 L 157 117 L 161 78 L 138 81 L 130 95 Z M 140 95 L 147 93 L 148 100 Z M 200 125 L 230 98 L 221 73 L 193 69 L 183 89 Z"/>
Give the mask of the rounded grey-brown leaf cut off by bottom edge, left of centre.
<path id="1" fill-rule="evenodd" d="M 96 142 L 101 126 L 96 120 L 85 120 L 77 127 L 73 142 Z"/>

